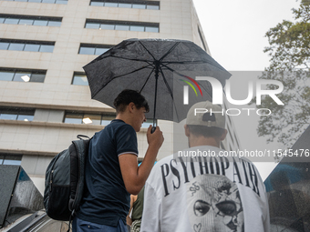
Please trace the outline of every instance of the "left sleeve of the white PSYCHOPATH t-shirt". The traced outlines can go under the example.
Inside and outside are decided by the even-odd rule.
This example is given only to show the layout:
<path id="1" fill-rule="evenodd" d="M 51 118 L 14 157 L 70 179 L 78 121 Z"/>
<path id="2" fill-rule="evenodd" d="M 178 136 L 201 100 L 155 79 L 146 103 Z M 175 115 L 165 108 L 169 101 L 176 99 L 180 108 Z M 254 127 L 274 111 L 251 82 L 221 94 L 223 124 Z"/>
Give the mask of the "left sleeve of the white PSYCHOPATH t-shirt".
<path id="1" fill-rule="evenodd" d="M 145 184 L 143 214 L 140 232 L 160 232 L 160 201 L 153 187 Z"/>

